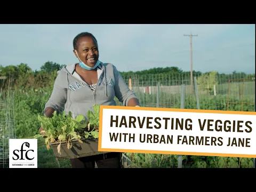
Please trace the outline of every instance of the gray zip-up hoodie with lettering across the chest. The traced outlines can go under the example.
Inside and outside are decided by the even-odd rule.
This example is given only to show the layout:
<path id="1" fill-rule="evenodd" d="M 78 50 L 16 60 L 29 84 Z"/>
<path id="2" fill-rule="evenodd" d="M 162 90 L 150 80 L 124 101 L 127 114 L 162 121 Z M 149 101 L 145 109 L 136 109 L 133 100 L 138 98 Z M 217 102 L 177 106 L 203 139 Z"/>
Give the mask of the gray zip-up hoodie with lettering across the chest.
<path id="1" fill-rule="evenodd" d="M 58 113 L 71 111 L 73 118 L 93 111 L 93 104 L 115 106 L 115 96 L 124 106 L 131 98 L 137 98 L 124 82 L 121 74 L 111 63 L 102 63 L 97 68 L 98 83 L 93 91 L 75 71 L 75 64 L 63 67 L 55 79 L 53 91 L 46 107 Z M 106 82 L 106 83 L 105 83 Z"/>

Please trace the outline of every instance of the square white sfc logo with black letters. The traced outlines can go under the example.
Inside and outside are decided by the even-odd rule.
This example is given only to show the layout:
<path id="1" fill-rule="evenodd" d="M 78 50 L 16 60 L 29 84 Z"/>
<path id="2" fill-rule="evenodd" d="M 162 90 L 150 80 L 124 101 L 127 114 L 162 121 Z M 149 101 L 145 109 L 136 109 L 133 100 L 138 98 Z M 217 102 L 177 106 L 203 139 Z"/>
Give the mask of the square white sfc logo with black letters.
<path id="1" fill-rule="evenodd" d="M 37 168 L 37 139 L 9 139 L 9 168 Z"/>

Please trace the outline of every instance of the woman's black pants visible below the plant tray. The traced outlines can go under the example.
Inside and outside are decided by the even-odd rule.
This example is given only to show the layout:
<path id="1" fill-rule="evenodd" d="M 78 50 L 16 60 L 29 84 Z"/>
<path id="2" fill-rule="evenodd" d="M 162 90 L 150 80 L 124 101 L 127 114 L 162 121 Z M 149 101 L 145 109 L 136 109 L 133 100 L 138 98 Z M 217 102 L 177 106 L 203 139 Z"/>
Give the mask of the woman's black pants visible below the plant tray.
<path id="1" fill-rule="evenodd" d="M 73 168 L 121 168 L 121 153 L 106 153 L 70 159 Z"/>

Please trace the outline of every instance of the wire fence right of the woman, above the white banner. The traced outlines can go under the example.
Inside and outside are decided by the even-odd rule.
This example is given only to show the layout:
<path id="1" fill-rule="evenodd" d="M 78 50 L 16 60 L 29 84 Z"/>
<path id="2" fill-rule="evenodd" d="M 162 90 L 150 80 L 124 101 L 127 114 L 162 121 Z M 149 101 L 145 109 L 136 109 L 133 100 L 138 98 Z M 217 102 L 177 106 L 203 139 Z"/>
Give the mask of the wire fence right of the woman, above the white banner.
<path id="1" fill-rule="evenodd" d="M 180 108 L 185 85 L 185 109 L 197 109 L 195 82 L 187 74 L 124 76 L 143 107 Z M 244 79 L 244 80 L 243 80 Z M 255 75 L 196 76 L 200 109 L 255 111 Z M 241 107 L 243 103 L 243 107 Z M 118 105 L 122 103 L 118 102 Z"/>

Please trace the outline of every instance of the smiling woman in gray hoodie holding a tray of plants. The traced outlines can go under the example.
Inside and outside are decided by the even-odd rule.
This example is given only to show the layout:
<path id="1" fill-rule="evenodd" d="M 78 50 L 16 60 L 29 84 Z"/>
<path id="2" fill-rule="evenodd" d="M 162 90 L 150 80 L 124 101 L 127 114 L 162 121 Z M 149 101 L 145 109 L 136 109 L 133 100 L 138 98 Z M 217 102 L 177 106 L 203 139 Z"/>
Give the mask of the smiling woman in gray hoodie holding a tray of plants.
<path id="1" fill-rule="evenodd" d="M 54 111 L 71 111 L 73 118 L 93 110 L 93 104 L 116 105 L 115 96 L 124 106 L 139 107 L 139 100 L 124 82 L 116 67 L 99 61 L 97 39 L 90 33 L 78 34 L 73 41 L 74 54 L 79 63 L 58 71 L 53 91 L 45 105 L 44 114 L 52 117 Z M 39 129 L 39 132 L 42 131 Z M 120 153 L 107 153 L 70 159 L 73 168 L 121 167 Z"/>

